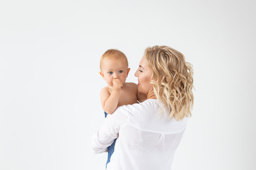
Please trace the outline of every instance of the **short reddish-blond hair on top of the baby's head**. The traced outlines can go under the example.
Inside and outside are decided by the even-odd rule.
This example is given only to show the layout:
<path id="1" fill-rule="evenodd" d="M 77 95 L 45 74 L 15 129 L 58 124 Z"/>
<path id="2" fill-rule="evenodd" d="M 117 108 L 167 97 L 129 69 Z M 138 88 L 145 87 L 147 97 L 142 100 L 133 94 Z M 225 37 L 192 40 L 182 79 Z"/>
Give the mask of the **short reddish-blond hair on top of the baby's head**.
<path id="1" fill-rule="evenodd" d="M 115 49 L 110 49 L 110 50 L 107 50 L 106 52 L 104 52 L 104 54 L 100 58 L 100 69 L 102 69 L 102 61 L 104 59 L 110 59 L 110 58 L 114 59 L 114 60 L 119 60 L 119 59 L 124 60 L 124 62 L 126 62 L 126 64 L 127 64 L 127 68 L 128 68 L 128 60 L 127 60 L 126 55 L 124 55 L 124 52 L 121 52 L 121 51 L 115 50 Z"/>

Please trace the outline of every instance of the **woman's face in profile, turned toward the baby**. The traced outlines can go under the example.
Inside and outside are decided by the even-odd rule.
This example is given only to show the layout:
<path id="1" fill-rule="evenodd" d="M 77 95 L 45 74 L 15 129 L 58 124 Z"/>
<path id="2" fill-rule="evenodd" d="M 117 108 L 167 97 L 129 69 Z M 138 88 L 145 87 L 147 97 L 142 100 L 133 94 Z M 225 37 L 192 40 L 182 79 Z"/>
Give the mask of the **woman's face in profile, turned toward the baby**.
<path id="1" fill-rule="evenodd" d="M 153 71 L 146 62 L 145 57 L 139 62 L 139 68 L 135 72 L 135 76 L 138 77 L 138 91 L 142 94 L 149 94 L 149 91 L 153 91 L 153 84 L 150 84 Z"/>

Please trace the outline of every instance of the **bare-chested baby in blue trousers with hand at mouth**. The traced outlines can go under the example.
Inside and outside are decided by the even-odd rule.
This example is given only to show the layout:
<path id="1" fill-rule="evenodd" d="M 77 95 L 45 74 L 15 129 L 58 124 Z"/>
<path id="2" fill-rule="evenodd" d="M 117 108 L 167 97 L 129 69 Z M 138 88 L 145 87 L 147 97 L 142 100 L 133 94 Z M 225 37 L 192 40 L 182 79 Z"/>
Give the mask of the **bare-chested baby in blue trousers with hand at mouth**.
<path id="1" fill-rule="evenodd" d="M 137 84 L 125 82 L 129 71 L 127 57 L 119 50 L 107 50 L 100 58 L 100 75 L 107 82 L 100 91 L 105 117 L 114 113 L 118 106 L 137 103 Z M 107 147 L 107 164 L 114 152 L 115 141 Z"/>

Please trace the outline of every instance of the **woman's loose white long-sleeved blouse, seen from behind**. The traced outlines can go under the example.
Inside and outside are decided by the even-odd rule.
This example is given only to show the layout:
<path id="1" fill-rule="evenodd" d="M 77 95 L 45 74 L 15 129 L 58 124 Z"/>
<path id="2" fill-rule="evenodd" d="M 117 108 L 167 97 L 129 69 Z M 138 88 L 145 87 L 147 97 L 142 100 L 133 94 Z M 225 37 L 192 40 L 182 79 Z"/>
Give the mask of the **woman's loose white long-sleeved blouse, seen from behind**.
<path id="1" fill-rule="evenodd" d="M 147 99 L 107 115 L 92 137 L 95 153 L 105 152 L 117 138 L 107 170 L 171 169 L 188 118 L 168 120 L 168 109 L 161 113 L 161 106 L 157 99 Z"/>

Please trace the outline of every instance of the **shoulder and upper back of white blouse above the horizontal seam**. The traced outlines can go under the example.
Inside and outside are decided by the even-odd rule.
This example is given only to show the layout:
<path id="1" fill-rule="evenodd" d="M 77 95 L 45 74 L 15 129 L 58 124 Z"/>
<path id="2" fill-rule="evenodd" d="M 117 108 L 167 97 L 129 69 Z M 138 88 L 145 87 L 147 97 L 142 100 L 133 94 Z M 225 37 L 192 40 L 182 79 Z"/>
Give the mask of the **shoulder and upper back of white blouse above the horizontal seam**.
<path id="1" fill-rule="evenodd" d="M 186 128 L 187 118 L 169 119 L 169 110 L 163 110 L 158 99 L 147 99 L 142 103 L 120 107 L 125 112 L 129 124 L 151 132 L 176 133 Z"/>

